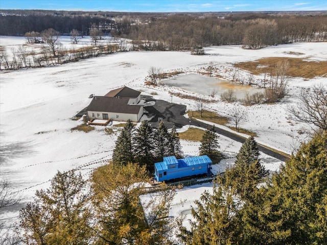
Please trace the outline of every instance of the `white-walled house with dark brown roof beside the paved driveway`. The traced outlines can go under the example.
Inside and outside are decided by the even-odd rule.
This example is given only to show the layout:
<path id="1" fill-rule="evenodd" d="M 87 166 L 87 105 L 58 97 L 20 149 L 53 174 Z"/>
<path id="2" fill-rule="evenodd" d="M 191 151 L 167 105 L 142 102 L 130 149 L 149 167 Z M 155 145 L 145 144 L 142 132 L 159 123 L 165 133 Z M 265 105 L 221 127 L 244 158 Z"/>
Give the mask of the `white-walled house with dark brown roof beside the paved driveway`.
<path id="1" fill-rule="evenodd" d="M 113 119 L 138 121 L 143 115 L 143 106 L 137 105 L 141 92 L 128 87 L 114 89 L 105 96 L 94 96 L 87 107 L 90 119 Z"/>

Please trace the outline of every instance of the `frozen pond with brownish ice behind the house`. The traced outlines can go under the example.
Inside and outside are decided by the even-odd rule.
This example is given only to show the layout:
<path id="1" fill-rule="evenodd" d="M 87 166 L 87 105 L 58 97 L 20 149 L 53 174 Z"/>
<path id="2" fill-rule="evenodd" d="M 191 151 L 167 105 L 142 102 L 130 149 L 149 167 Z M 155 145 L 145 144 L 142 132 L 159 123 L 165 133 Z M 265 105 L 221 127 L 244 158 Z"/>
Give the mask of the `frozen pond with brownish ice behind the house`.
<path id="1" fill-rule="evenodd" d="M 220 97 L 223 92 L 232 89 L 238 100 L 245 97 L 246 92 L 253 94 L 264 92 L 263 88 L 253 88 L 249 85 L 232 84 L 226 80 L 207 77 L 199 74 L 186 74 L 176 78 L 162 80 L 161 83 L 171 87 L 177 87 L 186 91 L 210 95 L 213 90 L 217 92 L 215 96 Z"/>

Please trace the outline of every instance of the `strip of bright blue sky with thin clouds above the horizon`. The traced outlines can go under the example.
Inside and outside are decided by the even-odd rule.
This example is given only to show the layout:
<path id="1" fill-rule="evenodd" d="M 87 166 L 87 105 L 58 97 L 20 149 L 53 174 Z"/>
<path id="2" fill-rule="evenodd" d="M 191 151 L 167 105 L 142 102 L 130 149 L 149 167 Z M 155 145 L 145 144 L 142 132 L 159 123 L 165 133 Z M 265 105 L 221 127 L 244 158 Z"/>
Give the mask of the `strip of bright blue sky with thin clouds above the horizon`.
<path id="1" fill-rule="evenodd" d="M 327 0 L 0 0 L 1 9 L 117 12 L 225 12 L 327 10 Z"/>

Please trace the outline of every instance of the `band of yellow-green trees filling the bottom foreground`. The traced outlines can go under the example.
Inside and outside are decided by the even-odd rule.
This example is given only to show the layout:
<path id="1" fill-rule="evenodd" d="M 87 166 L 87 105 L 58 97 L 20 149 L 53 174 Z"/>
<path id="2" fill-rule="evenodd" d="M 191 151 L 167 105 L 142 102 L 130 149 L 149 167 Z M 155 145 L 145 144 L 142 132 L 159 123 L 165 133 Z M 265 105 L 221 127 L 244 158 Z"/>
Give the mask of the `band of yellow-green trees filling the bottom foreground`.
<path id="1" fill-rule="evenodd" d="M 38 190 L 20 210 L 16 232 L 2 242 L 325 244 L 326 171 L 325 131 L 303 144 L 271 178 L 261 164 L 258 145 L 249 137 L 235 165 L 217 176 L 213 193 L 204 192 L 196 201 L 190 230 L 182 226 L 182 219 L 169 216 L 175 192 L 167 185 L 156 186 L 153 199 L 140 204 L 139 196 L 149 191 L 146 165 L 112 162 L 94 171 L 90 180 L 74 171 L 58 171 L 50 187 Z M 6 193 L 0 191 L 2 200 Z"/>

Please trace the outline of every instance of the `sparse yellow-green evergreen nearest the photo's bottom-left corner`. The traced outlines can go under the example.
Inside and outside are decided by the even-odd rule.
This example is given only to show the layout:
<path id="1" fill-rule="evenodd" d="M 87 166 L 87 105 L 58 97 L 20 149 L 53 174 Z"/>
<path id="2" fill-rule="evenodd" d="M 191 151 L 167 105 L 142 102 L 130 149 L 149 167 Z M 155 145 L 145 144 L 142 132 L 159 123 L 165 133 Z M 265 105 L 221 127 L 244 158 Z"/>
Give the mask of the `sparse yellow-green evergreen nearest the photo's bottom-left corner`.
<path id="1" fill-rule="evenodd" d="M 19 212 L 21 235 L 28 244 L 89 244 L 92 240 L 89 192 L 74 171 L 58 173 L 47 190 Z"/>

